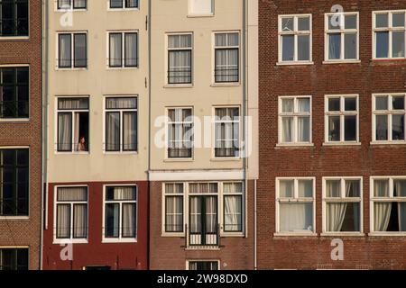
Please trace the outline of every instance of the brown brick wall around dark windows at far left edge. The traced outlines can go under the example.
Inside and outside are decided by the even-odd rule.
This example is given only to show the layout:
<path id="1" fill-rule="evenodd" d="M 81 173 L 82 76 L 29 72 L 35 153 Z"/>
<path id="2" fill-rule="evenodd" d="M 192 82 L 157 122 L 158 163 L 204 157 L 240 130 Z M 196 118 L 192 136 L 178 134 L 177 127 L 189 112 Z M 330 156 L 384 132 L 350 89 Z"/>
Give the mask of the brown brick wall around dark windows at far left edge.
<path id="1" fill-rule="evenodd" d="M 42 173 L 42 5 L 30 1 L 29 40 L 0 38 L 0 65 L 30 65 L 30 121 L 0 122 L 0 148 L 30 147 L 30 218 L 0 220 L 0 247 L 30 247 L 30 269 L 40 267 Z"/>

